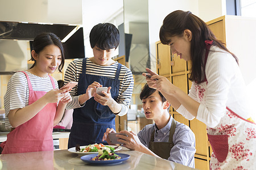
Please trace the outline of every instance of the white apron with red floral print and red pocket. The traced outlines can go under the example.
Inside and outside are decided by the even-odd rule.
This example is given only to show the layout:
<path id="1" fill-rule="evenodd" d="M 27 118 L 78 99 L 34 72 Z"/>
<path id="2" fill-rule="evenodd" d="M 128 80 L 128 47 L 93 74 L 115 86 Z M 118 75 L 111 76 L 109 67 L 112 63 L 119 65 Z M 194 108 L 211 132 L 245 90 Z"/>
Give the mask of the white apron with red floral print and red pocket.
<path id="1" fill-rule="evenodd" d="M 212 41 L 206 41 L 207 61 Z M 196 84 L 197 100 L 205 103 L 207 79 Z M 245 120 L 226 108 L 225 116 L 214 127 L 207 127 L 208 139 L 213 153 L 210 158 L 210 169 L 255 169 L 256 168 L 256 124 Z"/>

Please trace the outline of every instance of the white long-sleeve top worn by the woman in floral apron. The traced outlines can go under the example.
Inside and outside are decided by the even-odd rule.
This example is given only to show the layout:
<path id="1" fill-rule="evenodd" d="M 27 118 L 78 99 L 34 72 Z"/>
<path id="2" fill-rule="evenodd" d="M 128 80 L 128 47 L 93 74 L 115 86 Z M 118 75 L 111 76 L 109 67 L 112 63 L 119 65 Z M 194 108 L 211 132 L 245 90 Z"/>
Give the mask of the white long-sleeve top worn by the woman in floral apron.
<path id="1" fill-rule="evenodd" d="M 224 116 L 226 107 L 242 118 L 250 117 L 246 101 L 246 86 L 240 68 L 230 53 L 217 46 L 211 46 L 205 75 L 208 81 L 205 91 L 206 100 L 199 105 L 197 120 L 214 128 Z M 189 96 L 199 101 L 196 97 L 195 82 L 192 82 Z M 176 111 L 189 120 L 195 118 L 183 105 L 180 105 Z"/>

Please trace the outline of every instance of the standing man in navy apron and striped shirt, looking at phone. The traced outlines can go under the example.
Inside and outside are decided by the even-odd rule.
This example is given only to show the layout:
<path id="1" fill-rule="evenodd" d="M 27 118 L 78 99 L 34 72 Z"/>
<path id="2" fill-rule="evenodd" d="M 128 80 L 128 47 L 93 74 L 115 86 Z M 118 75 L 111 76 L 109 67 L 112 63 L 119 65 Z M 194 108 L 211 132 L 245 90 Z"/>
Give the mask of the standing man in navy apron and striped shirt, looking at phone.
<path id="1" fill-rule="evenodd" d="M 102 143 L 106 129 L 115 129 L 115 115 L 127 113 L 134 82 L 131 71 L 112 59 L 118 44 L 119 31 L 113 24 L 97 24 L 90 32 L 94 57 L 77 59 L 67 68 L 65 83 L 79 82 L 71 92 L 73 103 L 68 105 L 68 109 L 75 108 L 68 148 Z M 128 84 L 127 89 L 122 83 Z M 98 95 L 97 87 L 108 87 L 108 92 Z"/>

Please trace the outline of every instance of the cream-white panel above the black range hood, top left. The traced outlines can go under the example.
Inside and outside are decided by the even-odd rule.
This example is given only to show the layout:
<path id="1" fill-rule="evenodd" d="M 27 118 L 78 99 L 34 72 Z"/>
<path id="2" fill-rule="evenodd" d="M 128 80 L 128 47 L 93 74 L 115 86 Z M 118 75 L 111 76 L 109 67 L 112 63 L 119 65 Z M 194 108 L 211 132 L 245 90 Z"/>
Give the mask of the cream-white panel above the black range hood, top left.
<path id="1" fill-rule="evenodd" d="M 1 1 L 0 20 L 14 22 L 82 24 L 82 0 Z"/>

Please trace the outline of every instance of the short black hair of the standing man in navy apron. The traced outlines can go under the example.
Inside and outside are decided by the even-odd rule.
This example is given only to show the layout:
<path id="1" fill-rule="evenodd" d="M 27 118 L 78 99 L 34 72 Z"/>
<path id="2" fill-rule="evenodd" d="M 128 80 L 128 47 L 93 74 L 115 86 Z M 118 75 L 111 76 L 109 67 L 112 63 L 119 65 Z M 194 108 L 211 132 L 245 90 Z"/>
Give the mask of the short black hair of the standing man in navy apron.
<path id="1" fill-rule="evenodd" d="M 117 49 L 119 45 L 120 34 L 111 23 L 100 23 L 95 25 L 90 31 L 90 46 L 98 46 L 102 50 Z"/>

